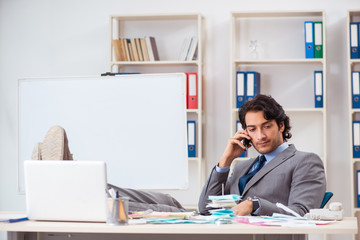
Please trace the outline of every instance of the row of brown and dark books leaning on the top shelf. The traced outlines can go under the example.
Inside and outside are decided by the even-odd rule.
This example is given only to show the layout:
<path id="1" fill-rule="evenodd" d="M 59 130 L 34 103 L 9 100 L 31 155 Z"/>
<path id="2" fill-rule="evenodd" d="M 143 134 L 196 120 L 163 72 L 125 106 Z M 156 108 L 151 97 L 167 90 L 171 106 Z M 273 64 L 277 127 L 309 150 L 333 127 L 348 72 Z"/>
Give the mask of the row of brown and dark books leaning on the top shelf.
<path id="1" fill-rule="evenodd" d="M 112 40 L 115 61 L 159 61 L 154 37 Z"/>

